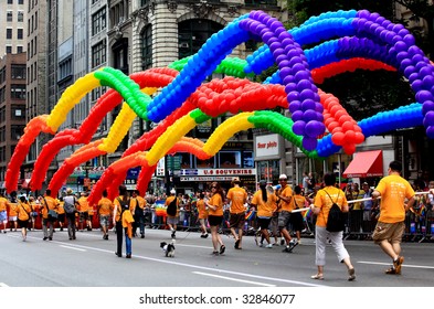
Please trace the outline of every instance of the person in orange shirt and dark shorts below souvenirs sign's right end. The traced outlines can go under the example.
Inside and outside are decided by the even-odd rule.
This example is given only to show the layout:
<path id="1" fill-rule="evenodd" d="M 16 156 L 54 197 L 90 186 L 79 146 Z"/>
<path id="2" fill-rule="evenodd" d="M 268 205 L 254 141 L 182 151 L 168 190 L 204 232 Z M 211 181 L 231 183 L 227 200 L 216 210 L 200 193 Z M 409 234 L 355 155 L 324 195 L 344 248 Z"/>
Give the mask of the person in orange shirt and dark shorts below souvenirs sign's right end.
<path id="1" fill-rule="evenodd" d="M 240 187 L 240 178 L 235 177 L 232 179 L 232 185 L 227 191 L 227 200 L 231 202 L 230 207 L 230 227 L 231 233 L 235 238 L 235 249 L 241 249 L 241 242 L 243 239 L 243 228 L 245 222 L 245 207 L 244 204 L 247 201 L 247 192 Z M 236 230 L 237 233 L 236 233 Z"/>

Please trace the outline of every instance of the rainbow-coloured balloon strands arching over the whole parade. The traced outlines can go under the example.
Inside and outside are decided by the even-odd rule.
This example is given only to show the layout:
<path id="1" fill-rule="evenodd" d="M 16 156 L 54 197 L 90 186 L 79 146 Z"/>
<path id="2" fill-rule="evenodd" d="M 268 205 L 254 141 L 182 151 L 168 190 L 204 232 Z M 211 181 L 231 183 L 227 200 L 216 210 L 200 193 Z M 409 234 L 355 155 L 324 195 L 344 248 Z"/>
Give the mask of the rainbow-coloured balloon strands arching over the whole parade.
<path id="1" fill-rule="evenodd" d="M 246 60 L 227 56 L 251 39 L 264 45 Z M 303 50 L 307 44 L 316 45 Z M 264 83 L 251 81 L 274 64 L 277 72 Z M 398 71 L 410 82 L 416 103 L 356 121 L 337 97 L 317 85 L 357 68 Z M 205 160 L 234 134 L 250 128 L 277 132 L 315 159 L 327 158 L 340 149 L 351 154 L 367 137 L 398 128 L 423 125 L 427 137 L 434 138 L 433 72 L 433 64 L 415 45 L 414 36 L 402 24 L 378 13 L 327 12 L 288 31 L 277 19 L 252 11 L 213 34 L 197 54 L 168 67 L 130 76 L 104 67 L 78 78 L 65 89 L 50 115 L 38 116 L 27 125 L 8 166 L 6 189 L 18 189 L 20 167 L 41 132 L 54 137 L 34 163 L 30 181 L 33 191 L 42 189 L 50 163 L 62 148 L 84 145 L 54 173 L 49 183 L 54 195 L 76 167 L 116 151 L 136 117 L 158 126 L 145 132 L 105 170 L 92 189 L 91 202 L 96 202 L 105 189 L 114 198 L 128 169 L 135 167 L 141 167 L 137 189 L 144 193 L 157 162 L 166 154 L 190 152 Z M 203 83 L 212 73 L 226 77 Z M 99 86 L 110 89 L 98 98 L 82 126 L 57 132 L 71 109 Z M 123 100 L 107 137 L 92 141 L 107 113 Z M 292 118 L 273 111 L 276 107 L 288 108 Z M 226 113 L 233 116 L 205 142 L 186 137 L 195 126 Z"/>

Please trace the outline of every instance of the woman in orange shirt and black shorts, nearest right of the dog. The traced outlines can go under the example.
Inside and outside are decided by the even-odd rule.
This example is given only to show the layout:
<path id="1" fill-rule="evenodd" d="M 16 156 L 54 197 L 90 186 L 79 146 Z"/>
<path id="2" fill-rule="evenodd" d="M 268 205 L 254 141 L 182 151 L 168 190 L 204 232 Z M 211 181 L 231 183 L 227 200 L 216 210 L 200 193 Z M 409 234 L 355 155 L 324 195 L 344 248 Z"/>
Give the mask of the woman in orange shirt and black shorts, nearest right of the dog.
<path id="1" fill-rule="evenodd" d="M 224 254 L 224 251 L 226 249 L 223 244 L 222 237 L 219 234 L 219 226 L 223 222 L 223 199 L 224 193 L 219 182 L 212 182 L 211 199 L 205 202 L 205 204 L 209 209 L 208 222 L 210 223 L 211 239 L 214 247 L 214 251 L 212 252 L 213 255 Z M 219 245 L 220 251 L 218 251 Z"/>

